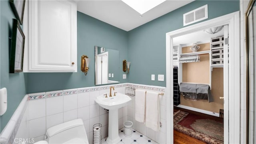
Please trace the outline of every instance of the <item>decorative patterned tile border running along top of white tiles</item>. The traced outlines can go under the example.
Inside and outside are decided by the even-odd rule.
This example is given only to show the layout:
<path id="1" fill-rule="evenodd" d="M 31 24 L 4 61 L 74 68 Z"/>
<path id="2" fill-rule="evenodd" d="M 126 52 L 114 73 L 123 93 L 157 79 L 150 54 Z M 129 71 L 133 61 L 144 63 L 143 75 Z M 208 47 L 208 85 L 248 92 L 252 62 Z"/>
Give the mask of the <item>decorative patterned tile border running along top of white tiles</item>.
<path id="1" fill-rule="evenodd" d="M 96 87 L 84 87 L 84 88 L 78 88 L 78 89 L 70 89 L 70 90 L 62 90 L 62 91 L 52 91 L 46 92 L 46 93 L 32 93 L 28 94 L 28 101 L 35 100 L 35 99 L 44 99 L 48 97 L 56 97 L 61 95 L 71 95 L 76 93 L 85 93 L 90 91 L 100 91 L 104 89 L 109 89 L 111 86 L 114 86 L 115 88 L 120 87 L 134 87 L 136 89 L 147 89 L 152 91 L 160 91 L 165 92 L 165 87 L 158 87 L 158 86 L 150 86 L 150 85 L 140 85 L 140 84 L 132 84 L 132 83 L 121 83 L 121 84 L 114 84 L 114 85 L 103 85 L 103 86 L 96 86 Z"/>

